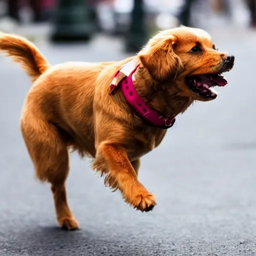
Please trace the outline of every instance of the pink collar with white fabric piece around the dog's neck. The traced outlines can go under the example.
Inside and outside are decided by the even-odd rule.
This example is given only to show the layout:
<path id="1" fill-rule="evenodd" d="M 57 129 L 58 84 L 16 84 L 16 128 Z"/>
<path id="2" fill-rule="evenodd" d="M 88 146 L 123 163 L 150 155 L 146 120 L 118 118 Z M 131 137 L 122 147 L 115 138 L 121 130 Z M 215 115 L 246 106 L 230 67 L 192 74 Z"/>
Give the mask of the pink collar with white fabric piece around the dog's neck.
<path id="1" fill-rule="evenodd" d="M 136 59 L 124 64 L 115 74 L 110 84 L 110 94 L 120 85 L 121 91 L 125 99 L 133 107 L 133 109 L 148 123 L 150 126 L 162 129 L 170 128 L 174 122 L 174 117 L 162 116 L 156 110 L 149 107 L 139 96 L 133 86 L 134 72 L 138 68 L 139 63 Z"/>

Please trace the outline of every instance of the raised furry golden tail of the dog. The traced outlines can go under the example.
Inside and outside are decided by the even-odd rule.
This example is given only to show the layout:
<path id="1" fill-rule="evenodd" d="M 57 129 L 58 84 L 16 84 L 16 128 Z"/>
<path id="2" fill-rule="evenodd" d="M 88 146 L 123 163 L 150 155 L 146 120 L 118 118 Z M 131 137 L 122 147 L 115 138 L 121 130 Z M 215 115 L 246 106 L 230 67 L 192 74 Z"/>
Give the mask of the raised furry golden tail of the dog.
<path id="1" fill-rule="evenodd" d="M 50 66 L 35 45 L 22 36 L 0 32 L 0 51 L 19 62 L 32 81 Z"/>

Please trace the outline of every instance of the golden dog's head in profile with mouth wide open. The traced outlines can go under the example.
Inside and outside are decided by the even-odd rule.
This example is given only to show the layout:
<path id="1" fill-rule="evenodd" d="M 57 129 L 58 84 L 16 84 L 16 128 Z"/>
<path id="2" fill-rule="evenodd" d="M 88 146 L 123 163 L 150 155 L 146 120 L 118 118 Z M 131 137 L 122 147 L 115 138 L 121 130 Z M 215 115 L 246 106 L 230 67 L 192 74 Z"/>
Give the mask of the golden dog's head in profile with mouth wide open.
<path id="1" fill-rule="evenodd" d="M 219 52 L 206 31 L 185 26 L 159 32 L 138 57 L 157 83 L 175 84 L 183 96 L 201 101 L 216 98 L 213 86 L 227 83 L 221 74 L 234 64 L 234 56 Z"/>

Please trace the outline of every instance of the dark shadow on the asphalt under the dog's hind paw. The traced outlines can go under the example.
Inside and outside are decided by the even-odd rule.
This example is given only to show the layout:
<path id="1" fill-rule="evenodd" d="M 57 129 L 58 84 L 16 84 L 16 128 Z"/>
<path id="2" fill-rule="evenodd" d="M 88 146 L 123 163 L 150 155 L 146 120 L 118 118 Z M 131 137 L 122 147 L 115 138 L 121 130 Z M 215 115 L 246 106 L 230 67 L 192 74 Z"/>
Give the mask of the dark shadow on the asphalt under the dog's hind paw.
<path id="1" fill-rule="evenodd" d="M 84 229 L 65 231 L 58 226 L 17 232 L 5 243 L 6 255 L 144 255 L 136 245 Z M 122 237 L 123 239 L 123 237 Z M 146 255 L 146 254 L 145 254 Z"/>

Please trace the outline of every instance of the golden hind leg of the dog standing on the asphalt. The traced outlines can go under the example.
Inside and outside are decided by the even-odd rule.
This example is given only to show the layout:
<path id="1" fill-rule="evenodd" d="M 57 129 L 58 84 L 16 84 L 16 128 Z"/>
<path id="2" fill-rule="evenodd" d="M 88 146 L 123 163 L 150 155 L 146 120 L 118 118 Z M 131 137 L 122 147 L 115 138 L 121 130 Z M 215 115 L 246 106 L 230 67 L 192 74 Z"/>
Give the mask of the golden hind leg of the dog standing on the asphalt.
<path id="1" fill-rule="evenodd" d="M 29 113 L 31 115 L 31 113 Z M 56 128 L 37 116 L 23 116 L 21 131 L 39 180 L 51 183 L 56 217 L 64 229 L 78 228 L 69 209 L 65 180 L 69 171 L 68 151 Z"/>

